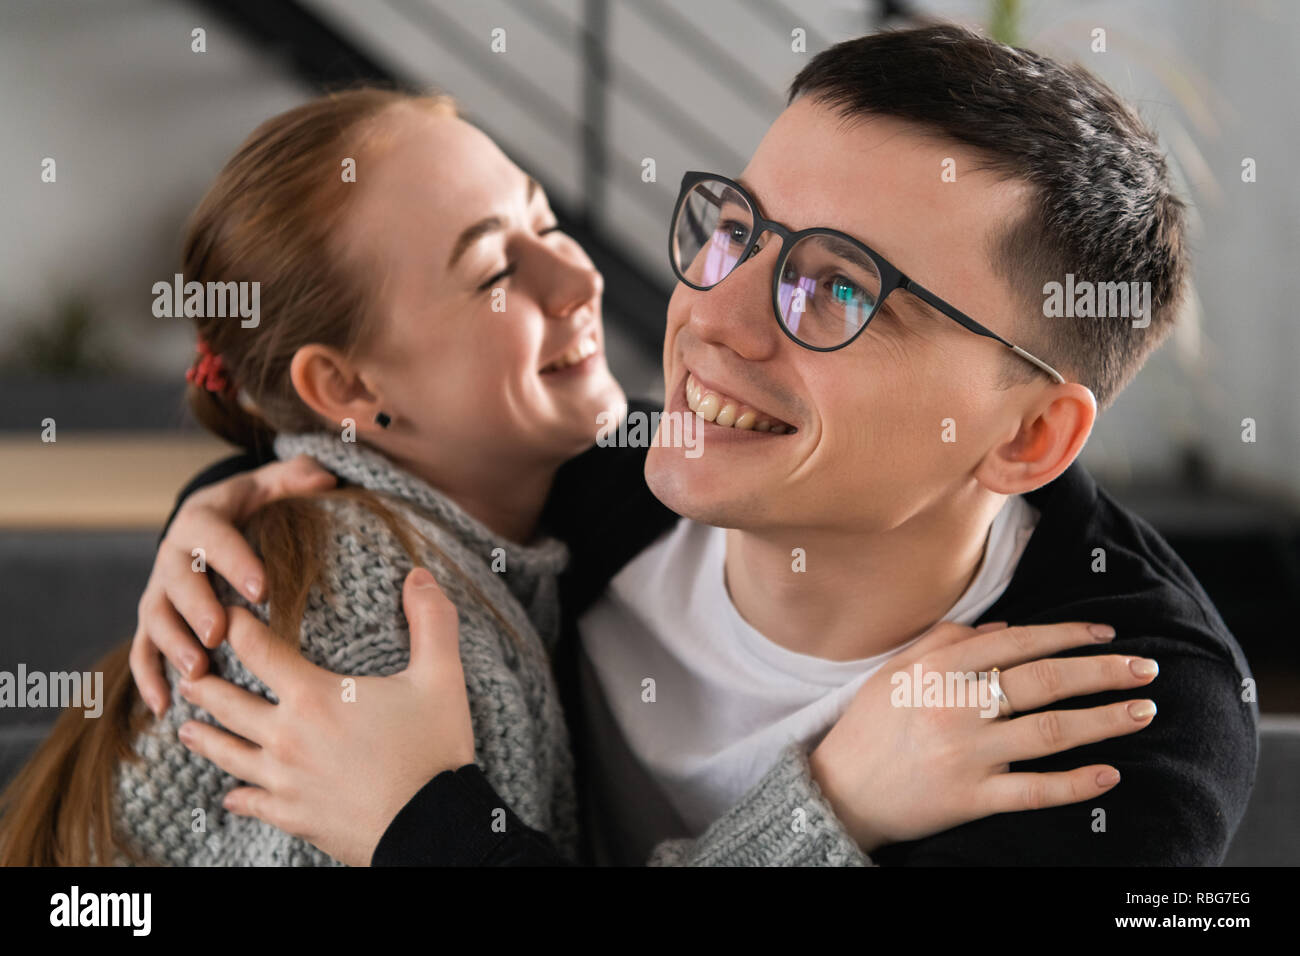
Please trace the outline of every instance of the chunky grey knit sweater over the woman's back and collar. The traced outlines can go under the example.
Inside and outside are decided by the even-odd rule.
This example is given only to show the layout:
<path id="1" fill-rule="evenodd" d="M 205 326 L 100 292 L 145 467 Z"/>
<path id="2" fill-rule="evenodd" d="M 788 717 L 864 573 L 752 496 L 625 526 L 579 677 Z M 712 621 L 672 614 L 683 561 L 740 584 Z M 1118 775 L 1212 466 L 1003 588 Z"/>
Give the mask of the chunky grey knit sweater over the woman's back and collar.
<path id="1" fill-rule="evenodd" d="M 462 579 L 412 536 L 421 550 L 420 563 L 459 611 L 460 657 L 478 765 L 520 819 L 572 855 L 572 757 L 546 653 L 558 637 L 556 578 L 567 561 L 564 546 L 552 540 L 521 546 L 500 538 L 443 494 L 361 445 L 322 433 L 287 434 L 276 441 L 281 459 L 304 453 L 347 483 L 380 493 L 412 532 L 434 542 L 510 622 L 517 643 Z M 302 653 L 338 674 L 394 674 L 410 659 L 402 585 L 415 564 L 384 520 L 364 505 L 330 497 L 318 503 L 330 519 L 329 546 L 322 555 L 324 574 L 303 615 Z M 250 605 L 217 575 L 212 581 L 222 604 L 242 605 L 268 620 L 266 605 Z M 211 672 L 276 700 L 228 644 L 212 652 Z M 190 753 L 177 737 L 177 728 L 188 719 L 216 721 L 176 693 L 179 674 L 170 666 L 168 679 L 172 708 L 133 741 L 140 760 L 124 762 L 117 771 L 118 835 L 156 864 L 338 865 L 306 840 L 221 806 L 222 796 L 238 782 Z M 382 745 L 382 740 L 376 741 L 376 747 Z M 484 821 L 484 826 L 490 823 Z"/>

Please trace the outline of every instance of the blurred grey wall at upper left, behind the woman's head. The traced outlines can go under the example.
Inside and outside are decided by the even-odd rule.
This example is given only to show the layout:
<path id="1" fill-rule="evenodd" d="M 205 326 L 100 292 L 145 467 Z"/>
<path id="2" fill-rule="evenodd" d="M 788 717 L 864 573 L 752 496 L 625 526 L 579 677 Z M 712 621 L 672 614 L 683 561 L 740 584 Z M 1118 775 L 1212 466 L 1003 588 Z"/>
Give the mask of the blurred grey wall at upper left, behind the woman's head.
<path id="1" fill-rule="evenodd" d="M 190 52 L 195 26 L 207 53 Z M 185 217 L 226 156 L 304 96 L 183 3 L 0 5 L 0 349 L 81 290 L 122 364 L 183 373 L 194 329 L 155 319 L 151 287 L 176 272 Z"/>

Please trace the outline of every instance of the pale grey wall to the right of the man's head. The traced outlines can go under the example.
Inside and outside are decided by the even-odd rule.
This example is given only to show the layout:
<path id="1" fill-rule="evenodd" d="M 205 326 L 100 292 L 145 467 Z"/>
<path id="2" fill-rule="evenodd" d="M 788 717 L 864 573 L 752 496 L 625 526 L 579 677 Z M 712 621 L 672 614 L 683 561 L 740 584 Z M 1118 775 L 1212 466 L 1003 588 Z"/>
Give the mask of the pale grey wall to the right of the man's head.
<path id="1" fill-rule="evenodd" d="M 961 20 L 987 4 L 927 3 Z M 1102 419 L 1086 460 L 1123 475 L 1170 471 L 1196 442 L 1244 488 L 1300 498 L 1300 4 L 1283 0 L 1039 0 L 1024 40 L 1088 66 L 1152 122 L 1192 204 L 1199 316 Z M 1095 27 L 1108 51 L 1089 48 Z M 1242 160 L 1257 181 L 1242 182 Z M 1191 321 L 1191 320 L 1196 321 Z M 1258 425 L 1242 442 L 1242 420 Z"/>

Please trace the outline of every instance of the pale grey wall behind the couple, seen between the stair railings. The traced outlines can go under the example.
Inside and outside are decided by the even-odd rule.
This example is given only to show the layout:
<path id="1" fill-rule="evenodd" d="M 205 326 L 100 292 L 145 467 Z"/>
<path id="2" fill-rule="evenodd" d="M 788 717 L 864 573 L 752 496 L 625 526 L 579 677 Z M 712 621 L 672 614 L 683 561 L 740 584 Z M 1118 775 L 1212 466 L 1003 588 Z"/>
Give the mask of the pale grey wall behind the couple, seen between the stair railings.
<path id="1" fill-rule="evenodd" d="M 507 0 L 307 4 L 380 59 L 455 94 L 581 208 L 581 0 L 529 0 L 530 16 Z M 987 16 L 983 0 L 918 5 L 966 22 Z M 781 5 L 744 0 L 611 3 L 611 185 L 602 220 L 656 274 L 667 278 L 663 233 L 681 172 L 725 168 L 728 156 L 744 163 L 806 61 L 790 51 L 790 29 L 809 30 L 815 52 L 816 39 L 855 35 L 867 22 L 866 4 L 852 0 L 784 7 L 797 13 L 774 18 Z M 420 13 L 430 8 L 441 18 Z M 1199 315 L 1102 418 L 1086 460 L 1108 476 L 1160 477 L 1192 444 L 1240 485 L 1300 499 L 1300 326 L 1291 315 L 1300 193 L 1287 165 L 1300 155 L 1290 118 L 1300 88 L 1300 4 L 1024 8 L 1031 46 L 1082 60 L 1138 103 L 1173 148 L 1195 208 Z M 442 29 L 448 20 L 454 30 Z M 190 52 L 194 26 L 208 30 L 207 53 Z M 507 31 L 502 55 L 489 51 L 497 26 Z M 1105 55 L 1088 49 L 1095 26 L 1108 30 Z M 495 59 L 485 68 L 484 57 Z M 748 64 L 745 92 L 727 81 L 732 59 Z M 521 96 L 507 74 L 530 94 Z M 689 103 L 710 138 L 656 120 L 633 95 L 638 81 L 670 103 Z M 0 347 L 17 324 L 48 312 L 56 290 L 79 287 L 94 295 L 105 338 L 130 365 L 174 376 L 188 330 L 150 315 L 148 287 L 170 274 L 183 216 L 234 144 L 303 95 L 274 62 L 183 3 L 9 0 L 0 9 Z M 58 161 L 55 186 L 38 178 L 47 155 Z M 1240 181 L 1243 156 L 1257 160 L 1253 185 Z M 656 161 L 654 183 L 641 181 L 645 157 Z M 654 386 L 655 363 L 620 359 L 637 392 Z M 1244 418 L 1257 421 L 1256 444 L 1240 441 Z"/>

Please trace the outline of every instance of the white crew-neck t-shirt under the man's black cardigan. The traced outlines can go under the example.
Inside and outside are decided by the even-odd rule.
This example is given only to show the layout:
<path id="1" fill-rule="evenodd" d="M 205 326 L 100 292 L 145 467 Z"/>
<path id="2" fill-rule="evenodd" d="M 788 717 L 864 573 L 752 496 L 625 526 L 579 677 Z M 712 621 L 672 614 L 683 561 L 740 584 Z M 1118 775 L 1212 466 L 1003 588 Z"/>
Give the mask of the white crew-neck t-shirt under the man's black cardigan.
<path id="1" fill-rule="evenodd" d="M 968 624 L 992 606 L 1037 519 L 1023 498 L 1008 498 L 989 528 L 979 571 L 944 620 Z M 819 741 L 858 687 L 902 649 L 827 661 L 770 641 L 731 601 L 725 549 L 725 531 L 681 519 L 624 567 L 578 622 L 584 667 L 597 685 L 586 695 L 603 698 L 601 717 L 615 724 L 588 721 L 589 732 L 602 737 L 592 796 L 602 814 L 623 818 L 619 839 L 655 826 L 642 822 L 654 813 L 625 805 L 653 790 L 646 777 L 686 835 L 702 832 L 771 769 L 786 744 Z M 647 678 L 654 702 L 644 700 Z M 632 774 L 642 783 L 629 784 Z M 619 777 L 624 779 L 614 779 Z M 640 853 L 681 834 L 637 835 L 644 836 L 634 840 Z"/>

